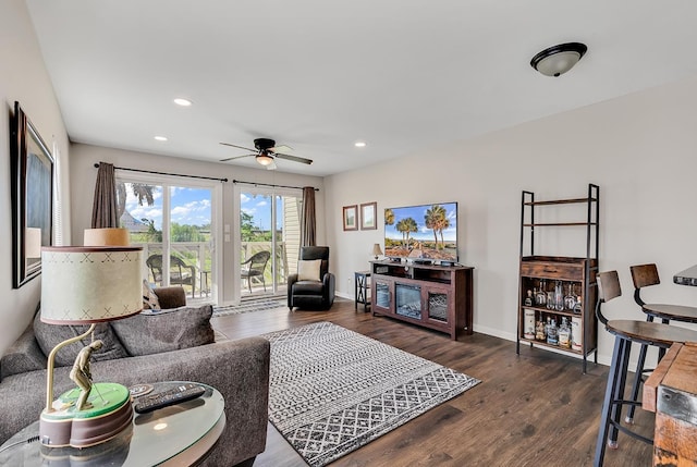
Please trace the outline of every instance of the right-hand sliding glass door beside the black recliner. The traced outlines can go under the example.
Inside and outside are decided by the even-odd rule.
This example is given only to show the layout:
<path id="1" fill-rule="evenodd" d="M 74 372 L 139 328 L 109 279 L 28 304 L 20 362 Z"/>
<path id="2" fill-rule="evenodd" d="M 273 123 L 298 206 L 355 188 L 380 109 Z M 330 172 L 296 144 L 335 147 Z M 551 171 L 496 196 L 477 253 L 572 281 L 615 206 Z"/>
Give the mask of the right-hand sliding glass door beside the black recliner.
<path id="1" fill-rule="evenodd" d="M 285 294 L 296 272 L 302 193 L 297 189 L 237 187 L 240 199 L 240 296 Z"/>

